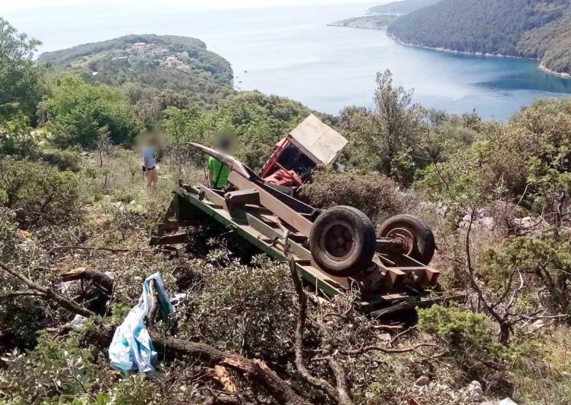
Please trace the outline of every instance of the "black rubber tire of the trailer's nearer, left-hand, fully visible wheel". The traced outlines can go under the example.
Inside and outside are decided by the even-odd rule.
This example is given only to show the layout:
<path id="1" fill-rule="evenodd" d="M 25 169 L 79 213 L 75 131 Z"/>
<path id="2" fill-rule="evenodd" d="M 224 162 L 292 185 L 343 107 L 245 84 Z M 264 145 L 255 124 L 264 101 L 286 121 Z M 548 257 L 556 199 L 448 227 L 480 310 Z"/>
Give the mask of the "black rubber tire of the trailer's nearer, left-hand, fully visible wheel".
<path id="1" fill-rule="evenodd" d="M 351 232 L 350 249 L 343 257 L 334 257 L 324 245 L 325 235 L 331 227 L 340 225 Z M 369 267 L 375 255 L 377 237 L 375 227 L 363 212 L 354 207 L 340 205 L 323 211 L 313 223 L 309 247 L 315 263 L 325 272 L 338 277 L 358 275 Z"/>

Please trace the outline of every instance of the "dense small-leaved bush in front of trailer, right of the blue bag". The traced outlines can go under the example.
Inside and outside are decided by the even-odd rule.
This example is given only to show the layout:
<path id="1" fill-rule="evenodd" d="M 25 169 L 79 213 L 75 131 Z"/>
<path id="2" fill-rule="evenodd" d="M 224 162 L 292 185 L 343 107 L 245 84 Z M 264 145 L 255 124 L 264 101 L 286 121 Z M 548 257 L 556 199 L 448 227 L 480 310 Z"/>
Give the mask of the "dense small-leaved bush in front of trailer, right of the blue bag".
<path id="1" fill-rule="evenodd" d="M 256 257 L 255 267 L 232 262 L 224 268 L 218 253 L 212 257 L 218 268 L 207 271 L 208 283 L 192 294 L 183 328 L 248 357 L 263 353 L 268 359 L 278 359 L 290 349 L 295 322 L 286 288 L 288 269 L 266 257 Z"/>

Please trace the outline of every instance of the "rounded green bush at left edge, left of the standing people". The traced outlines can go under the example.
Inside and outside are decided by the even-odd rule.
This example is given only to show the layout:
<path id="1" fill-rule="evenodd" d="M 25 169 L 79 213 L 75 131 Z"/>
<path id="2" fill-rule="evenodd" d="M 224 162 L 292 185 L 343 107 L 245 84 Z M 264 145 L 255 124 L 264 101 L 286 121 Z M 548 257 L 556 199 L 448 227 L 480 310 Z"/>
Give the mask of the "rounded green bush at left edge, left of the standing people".
<path id="1" fill-rule="evenodd" d="M 0 161 L 0 203 L 16 212 L 20 225 L 63 224 L 80 213 L 79 180 L 44 163 Z"/>

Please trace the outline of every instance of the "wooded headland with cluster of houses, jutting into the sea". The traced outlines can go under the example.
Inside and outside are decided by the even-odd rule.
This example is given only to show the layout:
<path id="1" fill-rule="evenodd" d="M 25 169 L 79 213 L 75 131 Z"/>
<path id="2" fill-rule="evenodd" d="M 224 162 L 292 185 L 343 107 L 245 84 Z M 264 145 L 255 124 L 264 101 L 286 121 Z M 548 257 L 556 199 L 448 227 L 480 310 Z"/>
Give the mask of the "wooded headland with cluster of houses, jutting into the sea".
<path id="1" fill-rule="evenodd" d="M 42 53 L 38 62 L 89 82 L 188 92 L 205 103 L 231 91 L 233 83 L 226 59 L 208 51 L 203 41 L 183 36 L 121 36 Z"/>

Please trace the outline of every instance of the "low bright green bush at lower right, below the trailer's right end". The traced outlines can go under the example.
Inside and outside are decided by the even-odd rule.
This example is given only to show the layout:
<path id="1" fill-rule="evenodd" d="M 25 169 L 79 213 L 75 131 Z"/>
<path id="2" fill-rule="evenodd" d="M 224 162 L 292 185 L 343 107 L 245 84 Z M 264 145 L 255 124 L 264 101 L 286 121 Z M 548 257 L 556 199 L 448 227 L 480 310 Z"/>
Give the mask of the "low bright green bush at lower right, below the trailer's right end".
<path id="1" fill-rule="evenodd" d="M 435 305 L 418 309 L 418 329 L 442 339 L 458 366 L 473 374 L 480 373 L 485 362 L 501 362 L 507 354 L 484 314 Z"/>

